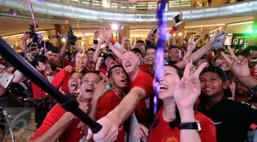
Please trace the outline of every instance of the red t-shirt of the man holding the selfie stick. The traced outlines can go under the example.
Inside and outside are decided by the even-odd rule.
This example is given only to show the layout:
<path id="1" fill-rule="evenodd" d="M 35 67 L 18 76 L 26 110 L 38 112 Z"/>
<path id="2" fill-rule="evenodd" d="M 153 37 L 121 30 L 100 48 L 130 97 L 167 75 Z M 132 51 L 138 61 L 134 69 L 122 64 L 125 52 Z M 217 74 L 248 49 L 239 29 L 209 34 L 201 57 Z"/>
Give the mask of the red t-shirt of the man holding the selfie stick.
<path id="1" fill-rule="evenodd" d="M 132 83 L 129 83 L 129 90 L 132 90 L 134 87 L 140 87 L 145 91 L 145 98 L 138 102 L 138 105 L 135 109 L 135 115 L 138 119 L 138 123 L 143 124 L 148 127 L 149 123 L 147 121 L 148 109 L 149 109 L 149 100 L 154 96 L 154 87 L 153 87 L 153 78 L 140 70 L 136 75 L 136 78 Z"/>

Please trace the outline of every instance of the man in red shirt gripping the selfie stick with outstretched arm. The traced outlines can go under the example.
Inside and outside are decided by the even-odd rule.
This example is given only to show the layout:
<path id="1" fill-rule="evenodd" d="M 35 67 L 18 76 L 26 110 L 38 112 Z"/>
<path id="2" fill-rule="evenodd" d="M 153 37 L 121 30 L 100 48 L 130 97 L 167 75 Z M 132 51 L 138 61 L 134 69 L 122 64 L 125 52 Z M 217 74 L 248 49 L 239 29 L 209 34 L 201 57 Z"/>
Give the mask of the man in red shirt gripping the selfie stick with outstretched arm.
<path id="1" fill-rule="evenodd" d="M 140 70 L 140 60 L 132 51 L 123 54 L 122 64 L 131 82 L 128 90 L 130 92 L 113 111 L 97 121 L 103 126 L 102 130 L 96 134 L 101 141 L 110 141 L 113 137 L 117 137 L 118 126 L 134 111 L 138 122 L 148 126 L 149 98 L 154 94 L 153 79 L 149 74 Z M 92 139 L 93 133 L 90 130 L 88 132 L 87 139 Z"/>

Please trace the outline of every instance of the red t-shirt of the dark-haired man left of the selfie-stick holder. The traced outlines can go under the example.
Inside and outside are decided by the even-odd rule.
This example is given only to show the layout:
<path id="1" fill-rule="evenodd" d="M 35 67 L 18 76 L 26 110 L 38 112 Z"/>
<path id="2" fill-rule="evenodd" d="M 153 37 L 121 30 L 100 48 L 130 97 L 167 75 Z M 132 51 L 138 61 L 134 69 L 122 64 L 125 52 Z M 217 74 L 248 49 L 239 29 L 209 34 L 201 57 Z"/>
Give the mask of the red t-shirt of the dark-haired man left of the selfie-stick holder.
<path id="1" fill-rule="evenodd" d="M 110 111 L 112 111 L 120 102 L 120 98 L 114 89 L 109 90 L 103 98 L 99 100 L 97 108 L 97 120 L 106 116 Z M 115 142 L 124 142 L 125 132 L 123 130 L 123 124 L 119 126 L 119 134 Z"/>

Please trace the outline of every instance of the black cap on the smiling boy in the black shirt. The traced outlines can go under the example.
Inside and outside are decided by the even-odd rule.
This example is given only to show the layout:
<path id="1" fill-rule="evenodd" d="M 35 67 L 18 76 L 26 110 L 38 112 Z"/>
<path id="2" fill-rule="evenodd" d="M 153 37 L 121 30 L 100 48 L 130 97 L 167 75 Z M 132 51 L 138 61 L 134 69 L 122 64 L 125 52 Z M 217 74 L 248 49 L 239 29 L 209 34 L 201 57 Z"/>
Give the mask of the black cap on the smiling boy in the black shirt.
<path id="1" fill-rule="evenodd" d="M 208 67 L 204 68 L 204 70 L 201 71 L 201 74 L 203 74 L 205 72 L 215 72 L 215 73 L 219 74 L 219 77 L 222 79 L 222 81 L 228 81 L 227 74 L 225 74 L 225 72 L 217 66 L 208 66 Z M 200 76 L 201 76 L 201 74 L 200 74 Z M 228 87 L 227 89 L 224 89 L 224 96 L 226 96 L 227 98 L 232 97 L 232 91 L 231 91 L 230 87 Z"/>

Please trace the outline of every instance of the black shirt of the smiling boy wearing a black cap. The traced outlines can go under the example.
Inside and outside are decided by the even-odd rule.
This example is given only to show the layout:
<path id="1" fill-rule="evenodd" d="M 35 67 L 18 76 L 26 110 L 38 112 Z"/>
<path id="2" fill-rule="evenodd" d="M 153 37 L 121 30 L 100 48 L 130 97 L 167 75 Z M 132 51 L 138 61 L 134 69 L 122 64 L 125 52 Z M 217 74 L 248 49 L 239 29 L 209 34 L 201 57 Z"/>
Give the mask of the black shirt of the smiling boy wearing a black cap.
<path id="1" fill-rule="evenodd" d="M 215 123 L 218 142 L 243 142 L 249 127 L 257 124 L 256 109 L 225 97 L 209 110 L 201 104 L 201 111 Z"/>

